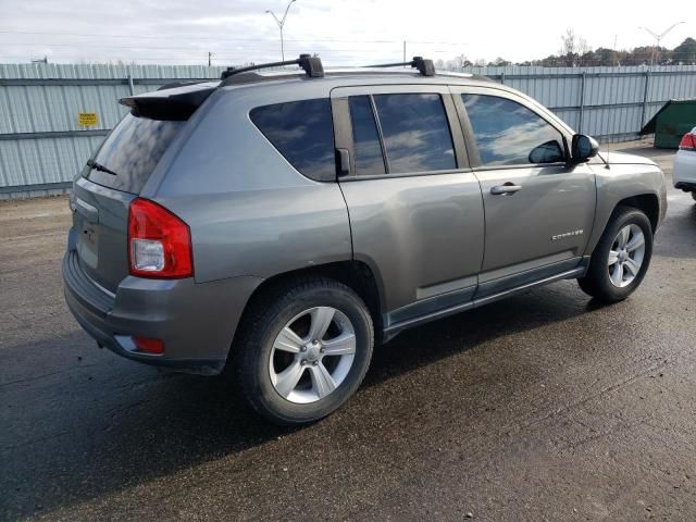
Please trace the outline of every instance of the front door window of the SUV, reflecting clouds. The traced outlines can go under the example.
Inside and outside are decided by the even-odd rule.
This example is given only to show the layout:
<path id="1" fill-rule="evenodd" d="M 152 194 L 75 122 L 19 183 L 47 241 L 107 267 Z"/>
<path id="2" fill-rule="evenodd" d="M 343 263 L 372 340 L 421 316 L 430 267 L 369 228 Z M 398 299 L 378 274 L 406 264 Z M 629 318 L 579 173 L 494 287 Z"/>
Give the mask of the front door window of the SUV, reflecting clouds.
<path id="1" fill-rule="evenodd" d="M 561 134 L 520 103 L 462 95 L 483 165 L 554 163 L 564 160 Z"/>

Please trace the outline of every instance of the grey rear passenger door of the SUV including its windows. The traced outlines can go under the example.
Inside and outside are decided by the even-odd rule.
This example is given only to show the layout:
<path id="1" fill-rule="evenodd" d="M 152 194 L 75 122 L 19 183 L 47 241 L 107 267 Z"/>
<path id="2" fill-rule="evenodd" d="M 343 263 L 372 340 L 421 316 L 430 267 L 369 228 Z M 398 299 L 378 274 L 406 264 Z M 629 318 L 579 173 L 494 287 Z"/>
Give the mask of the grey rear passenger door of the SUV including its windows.
<path id="1" fill-rule="evenodd" d="M 470 302 L 483 201 L 446 86 L 332 91 L 353 256 L 383 296 L 385 327 Z"/>

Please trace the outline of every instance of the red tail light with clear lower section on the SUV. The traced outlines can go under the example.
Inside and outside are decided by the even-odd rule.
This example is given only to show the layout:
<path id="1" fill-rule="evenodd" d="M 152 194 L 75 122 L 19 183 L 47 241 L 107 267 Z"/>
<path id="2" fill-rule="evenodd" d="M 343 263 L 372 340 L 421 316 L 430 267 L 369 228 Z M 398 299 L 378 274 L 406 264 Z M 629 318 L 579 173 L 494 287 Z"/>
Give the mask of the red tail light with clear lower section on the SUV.
<path id="1" fill-rule="evenodd" d="M 153 201 L 136 198 L 128 210 L 128 264 L 140 277 L 194 275 L 188 225 Z"/>

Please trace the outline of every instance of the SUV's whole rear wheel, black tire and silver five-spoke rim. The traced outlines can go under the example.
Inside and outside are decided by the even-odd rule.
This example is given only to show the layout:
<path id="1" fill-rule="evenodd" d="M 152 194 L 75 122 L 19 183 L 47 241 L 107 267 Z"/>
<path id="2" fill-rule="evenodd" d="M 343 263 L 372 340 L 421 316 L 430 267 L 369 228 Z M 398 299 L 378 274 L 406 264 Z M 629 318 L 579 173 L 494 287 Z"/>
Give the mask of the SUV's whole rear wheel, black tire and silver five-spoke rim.
<path id="1" fill-rule="evenodd" d="M 235 344 L 248 401 L 285 425 L 335 411 L 362 382 L 373 348 L 365 303 L 332 279 L 298 281 L 264 295 Z"/>

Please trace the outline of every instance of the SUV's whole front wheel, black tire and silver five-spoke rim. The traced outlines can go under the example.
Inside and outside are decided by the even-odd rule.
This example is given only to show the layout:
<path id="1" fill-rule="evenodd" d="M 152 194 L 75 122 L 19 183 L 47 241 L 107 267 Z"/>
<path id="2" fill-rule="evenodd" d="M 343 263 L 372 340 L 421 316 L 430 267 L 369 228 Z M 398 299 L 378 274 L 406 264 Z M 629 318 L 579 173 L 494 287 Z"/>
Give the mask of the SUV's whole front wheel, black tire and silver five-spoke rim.
<path id="1" fill-rule="evenodd" d="M 638 209 L 620 207 L 607 224 L 580 287 L 606 302 L 629 297 L 645 277 L 652 256 L 652 226 Z"/>

